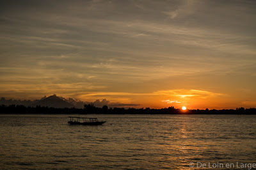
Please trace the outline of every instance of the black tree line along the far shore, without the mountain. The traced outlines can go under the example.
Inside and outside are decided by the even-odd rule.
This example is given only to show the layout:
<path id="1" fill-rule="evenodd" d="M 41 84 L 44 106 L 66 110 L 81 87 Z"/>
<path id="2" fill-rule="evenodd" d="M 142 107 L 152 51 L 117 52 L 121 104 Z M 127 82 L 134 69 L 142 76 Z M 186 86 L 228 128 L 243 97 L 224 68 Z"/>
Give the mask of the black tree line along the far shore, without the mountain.
<path id="1" fill-rule="evenodd" d="M 135 109 L 125 109 L 122 107 L 109 108 L 107 105 L 103 107 L 95 107 L 93 104 L 85 104 L 84 109 L 73 108 L 54 108 L 37 105 L 36 107 L 24 105 L 0 105 L 0 114 L 256 114 L 255 108 L 244 109 L 192 109 L 182 111 L 174 107 L 163 109 L 150 109 L 149 107 Z"/>

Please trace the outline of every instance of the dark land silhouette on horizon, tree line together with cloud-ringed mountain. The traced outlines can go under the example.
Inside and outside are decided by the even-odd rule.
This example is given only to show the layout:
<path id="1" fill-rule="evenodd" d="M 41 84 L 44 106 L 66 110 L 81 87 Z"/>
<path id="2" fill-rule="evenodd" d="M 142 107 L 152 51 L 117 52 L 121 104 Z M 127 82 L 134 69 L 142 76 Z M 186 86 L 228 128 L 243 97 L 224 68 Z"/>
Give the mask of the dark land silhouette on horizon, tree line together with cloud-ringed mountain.
<path id="1" fill-rule="evenodd" d="M 98 104 L 98 105 L 95 105 Z M 115 104 L 109 107 L 108 100 L 101 102 L 81 102 L 72 98 L 43 97 L 40 100 L 0 100 L 0 114 L 256 114 L 255 108 L 244 109 L 176 109 L 171 106 L 163 109 L 150 109 L 149 107 L 136 109 L 138 104 Z M 120 107 L 121 106 L 121 107 Z M 125 106 L 125 107 L 122 107 Z M 132 107 L 134 106 L 134 107 Z"/>

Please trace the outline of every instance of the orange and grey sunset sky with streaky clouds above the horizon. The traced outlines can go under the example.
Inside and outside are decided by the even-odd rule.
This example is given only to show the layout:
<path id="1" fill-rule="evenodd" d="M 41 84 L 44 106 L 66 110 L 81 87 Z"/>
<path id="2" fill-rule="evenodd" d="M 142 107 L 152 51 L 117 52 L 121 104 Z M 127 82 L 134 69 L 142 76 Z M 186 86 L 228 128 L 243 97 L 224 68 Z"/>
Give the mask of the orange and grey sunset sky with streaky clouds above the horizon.
<path id="1" fill-rule="evenodd" d="M 0 97 L 256 107 L 256 1 L 1 1 Z"/>

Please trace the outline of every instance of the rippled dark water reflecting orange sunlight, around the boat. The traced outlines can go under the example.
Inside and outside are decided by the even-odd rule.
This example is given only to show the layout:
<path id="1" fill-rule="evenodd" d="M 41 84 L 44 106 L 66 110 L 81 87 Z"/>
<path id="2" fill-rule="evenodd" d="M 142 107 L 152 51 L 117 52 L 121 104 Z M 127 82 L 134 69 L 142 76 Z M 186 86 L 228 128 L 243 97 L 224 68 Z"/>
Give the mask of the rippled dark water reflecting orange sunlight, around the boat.
<path id="1" fill-rule="evenodd" d="M 0 115 L 0 168 L 253 169 L 256 163 L 255 115 L 88 116 L 107 121 L 94 127 L 68 125 L 67 117 Z"/>

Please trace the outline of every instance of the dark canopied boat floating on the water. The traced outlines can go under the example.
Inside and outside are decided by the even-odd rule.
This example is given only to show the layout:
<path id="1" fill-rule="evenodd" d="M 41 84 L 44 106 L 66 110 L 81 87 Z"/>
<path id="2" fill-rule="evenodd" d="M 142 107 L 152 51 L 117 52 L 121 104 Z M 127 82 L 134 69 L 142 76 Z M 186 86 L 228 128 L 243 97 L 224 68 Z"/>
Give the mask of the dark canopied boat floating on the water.
<path id="1" fill-rule="evenodd" d="M 70 125 L 102 125 L 106 122 L 98 121 L 97 118 L 82 118 L 79 116 L 69 116 L 68 118 L 70 118 L 70 121 L 68 121 Z"/>

